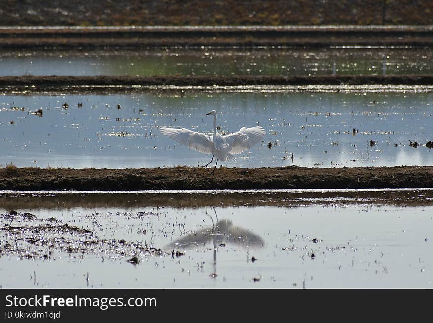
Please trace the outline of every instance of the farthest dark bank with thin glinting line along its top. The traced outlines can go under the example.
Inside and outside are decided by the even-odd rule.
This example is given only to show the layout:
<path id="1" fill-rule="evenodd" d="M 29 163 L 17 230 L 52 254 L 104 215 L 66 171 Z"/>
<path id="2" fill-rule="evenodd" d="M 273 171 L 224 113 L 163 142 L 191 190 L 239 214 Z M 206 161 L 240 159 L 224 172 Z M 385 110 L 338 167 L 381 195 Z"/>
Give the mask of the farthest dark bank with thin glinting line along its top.
<path id="1" fill-rule="evenodd" d="M 2 49 L 432 46 L 430 26 L 0 28 Z"/>

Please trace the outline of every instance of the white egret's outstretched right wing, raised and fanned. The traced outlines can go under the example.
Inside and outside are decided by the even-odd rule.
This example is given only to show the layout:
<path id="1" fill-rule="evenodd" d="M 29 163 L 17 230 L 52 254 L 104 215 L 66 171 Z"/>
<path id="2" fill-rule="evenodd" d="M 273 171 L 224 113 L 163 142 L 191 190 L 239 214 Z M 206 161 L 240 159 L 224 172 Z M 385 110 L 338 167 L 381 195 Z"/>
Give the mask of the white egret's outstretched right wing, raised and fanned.
<path id="1" fill-rule="evenodd" d="M 239 154 L 260 143 L 265 134 L 265 130 L 260 126 L 252 128 L 242 127 L 238 132 L 224 136 L 224 138 L 230 145 L 229 152 L 231 154 Z"/>

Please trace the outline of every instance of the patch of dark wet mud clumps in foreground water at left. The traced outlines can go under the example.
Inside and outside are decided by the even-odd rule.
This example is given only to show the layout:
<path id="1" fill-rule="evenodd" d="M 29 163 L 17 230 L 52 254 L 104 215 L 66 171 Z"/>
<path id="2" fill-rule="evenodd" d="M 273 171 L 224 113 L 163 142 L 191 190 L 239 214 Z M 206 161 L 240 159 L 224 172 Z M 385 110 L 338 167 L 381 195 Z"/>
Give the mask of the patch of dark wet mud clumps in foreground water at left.
<path id="1" fill-rule="evenodd" d="M 130 218 L 131 214 L 118 214 Z M 136 213 L 137 217 L 149 214 Z M 74 220 L 75 221 L 75 220 Z M 85 256 L 99 256 L 102 260 L 126 259 L 131 264 L 138 264 L 148 256 L 168 256 L 164 252 L 143 241 L 124 239 L 104 239 L 101 225 L 94 225 L 92 230 L 55 218 L 38 218 L 31 213 L 11 211 L 0 214 L 0 258 L 18 257 L 18 259 L 41 259 L 53 261 L 66 254 L 68 258 L 82 259 Z M 95 221 L 95 220 L 94 220 Z M 94 222 L 93 221 L 93 222 Z"/>

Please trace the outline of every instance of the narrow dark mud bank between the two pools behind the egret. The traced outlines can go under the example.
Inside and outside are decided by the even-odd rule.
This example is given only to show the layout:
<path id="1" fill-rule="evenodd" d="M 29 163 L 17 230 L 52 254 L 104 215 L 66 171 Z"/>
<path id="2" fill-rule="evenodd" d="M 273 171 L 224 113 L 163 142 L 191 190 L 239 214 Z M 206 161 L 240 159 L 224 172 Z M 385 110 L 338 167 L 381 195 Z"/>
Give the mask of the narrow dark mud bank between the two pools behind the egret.
<path id="1" fill-rule="evenodd" d="M 237 86 L 237 85 L 432 85 L 433 75 L 325 75 L 325 76 L 2 76 L 0 88 L 43 91 L 68 87 L 116 86 Z"/>

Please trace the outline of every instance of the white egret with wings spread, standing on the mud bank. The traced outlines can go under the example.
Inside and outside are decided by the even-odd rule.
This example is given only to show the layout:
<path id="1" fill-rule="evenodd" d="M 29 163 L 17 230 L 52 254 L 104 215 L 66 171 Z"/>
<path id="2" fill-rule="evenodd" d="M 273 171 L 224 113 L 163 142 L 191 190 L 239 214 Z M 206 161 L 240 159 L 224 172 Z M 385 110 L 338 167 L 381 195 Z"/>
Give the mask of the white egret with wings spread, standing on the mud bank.
<path id="1" fill-rule="evenodd" d="M 200 151 L 205 154 L 212 154 L 212 159 L 204 166 L 208 166 L 216 157 L 216 164 L 212 171 L 214 174 L 218 160 L 228 161 L 233 158 L 233 155 L 240 154 L 241 152 L 258 144 L 265 137 L 265 130 L 260 127 L 246 128 L 242 127 L 238 132 L 230 135 L 221 135 L 216 130 L 216 111 L 212 110 L 207 115 L 214 116 L 214 134 L 213 136 L 205 135 L 196 131 L 191 131 L 186 128 L 174 129 L 167 127 L 160 127 L 159 130 L 163 135 L 170 137 L 178 143 L 188 146 L 191 149 Z"/>

